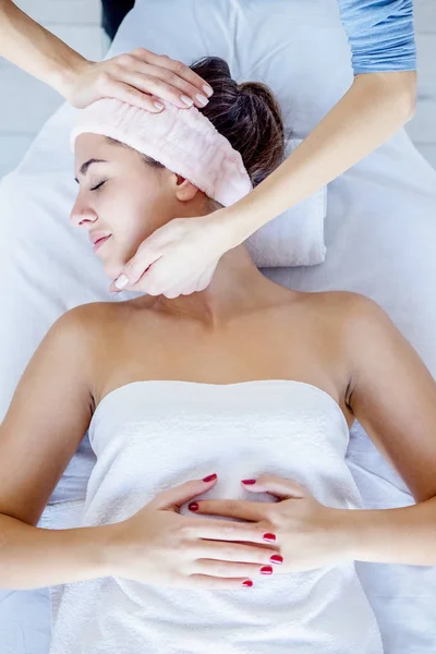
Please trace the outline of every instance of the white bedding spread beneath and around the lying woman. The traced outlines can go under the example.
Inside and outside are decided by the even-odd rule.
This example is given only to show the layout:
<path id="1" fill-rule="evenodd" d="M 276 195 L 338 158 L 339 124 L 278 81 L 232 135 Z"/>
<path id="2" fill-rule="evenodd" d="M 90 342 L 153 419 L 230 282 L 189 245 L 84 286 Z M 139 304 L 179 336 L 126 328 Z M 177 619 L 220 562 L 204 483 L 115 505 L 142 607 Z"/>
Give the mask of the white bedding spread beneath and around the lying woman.
<path id="1" fill-rule="evenodd" d="M 137 0 L 112 52 L 140 45 L 186 61 L 220 55 L 240 78 L 265 80 L 294 137 L 304 137 L 351 81 L 335 0 Z M 109 299 L 99 262 L 68 222 L 75 193 L 68 145 L 73 114 L 62 107 L 0 184 L 0 416 L 50 324 L 72 306 Z M 401 131 L 329 185 L 325 263 L 265 274 L 300 290 L 370 295 L 436 374 L 435 209 L 436 171 Z M 93 463 L 85 438 L 40 525 L 74 524 L 65 507 L 80 512 Z M 349 463 L 368 507 L 412 501 L 359 425 Z M 435 569 L 367 565 L 360 572 L 386 652 L 434 651 Z M 47 591 L 0 592 L 0 654 L 47 654 Z"/>

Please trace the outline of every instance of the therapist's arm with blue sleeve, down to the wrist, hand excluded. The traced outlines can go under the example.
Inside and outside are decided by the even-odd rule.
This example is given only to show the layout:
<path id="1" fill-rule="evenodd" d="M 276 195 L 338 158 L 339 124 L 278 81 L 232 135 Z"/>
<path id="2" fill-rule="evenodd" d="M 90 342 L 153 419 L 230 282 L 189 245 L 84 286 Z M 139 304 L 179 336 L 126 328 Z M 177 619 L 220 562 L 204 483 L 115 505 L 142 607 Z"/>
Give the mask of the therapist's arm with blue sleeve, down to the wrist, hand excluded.
<path id="1" fill-rule="evenodd" d="M 353 84 L 277 171 L 226 209 L 238 243 L 354 166 L 413 116 L 413 0 L 338 0 L 338 7 Z"/>

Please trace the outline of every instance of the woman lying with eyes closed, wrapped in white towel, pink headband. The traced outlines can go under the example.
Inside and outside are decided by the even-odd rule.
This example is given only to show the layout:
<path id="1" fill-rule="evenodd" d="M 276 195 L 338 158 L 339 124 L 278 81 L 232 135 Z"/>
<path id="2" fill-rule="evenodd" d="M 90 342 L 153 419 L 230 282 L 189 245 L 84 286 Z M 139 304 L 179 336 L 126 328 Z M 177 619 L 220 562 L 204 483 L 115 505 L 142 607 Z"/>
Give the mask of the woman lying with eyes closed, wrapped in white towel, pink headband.
<path id="1" fill-rule="evenodd" d="M 193 69 L 215 89 L 202 111 L 102 99 L 72 134 L 72 222 L 111 279 L 159 227 L 210 219 L 282 159 L 269 90 L 220 59 Z M 354 419 L 415 506 L 361 508 Z M 436 564 L 435 425 L 436 385 L 374 302 L 278 286 L 240 245 L 206 290 L 50 329 L 1 426 L 0 585 L 65 584 L 52 654 L 378 654 L 354 560 Z M 36 528 L 88 427 L 81 526 Z"/>

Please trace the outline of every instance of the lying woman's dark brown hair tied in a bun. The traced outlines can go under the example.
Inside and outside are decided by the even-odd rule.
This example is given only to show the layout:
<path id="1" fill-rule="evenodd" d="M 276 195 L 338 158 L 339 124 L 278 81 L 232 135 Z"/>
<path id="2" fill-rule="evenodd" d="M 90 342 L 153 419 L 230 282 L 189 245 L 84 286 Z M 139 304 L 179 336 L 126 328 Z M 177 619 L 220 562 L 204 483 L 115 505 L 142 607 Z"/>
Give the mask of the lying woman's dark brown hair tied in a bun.
<path id="1" fill-rule="evenodd" d="M 199 111 L 241 154 L 256 186 L 284 157 L 281 111 L 271 90 L 261 82 L 238 84 L 219 57 L 205 57 L 190 68 L 214 89 L 208 105 Z"/>

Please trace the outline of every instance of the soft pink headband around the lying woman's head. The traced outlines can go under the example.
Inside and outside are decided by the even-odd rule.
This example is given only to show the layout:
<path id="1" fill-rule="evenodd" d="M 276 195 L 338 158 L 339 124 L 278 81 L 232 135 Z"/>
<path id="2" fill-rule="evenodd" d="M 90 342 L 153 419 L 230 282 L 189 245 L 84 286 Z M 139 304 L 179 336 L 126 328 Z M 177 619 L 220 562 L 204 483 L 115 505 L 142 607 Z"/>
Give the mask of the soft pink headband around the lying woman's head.
<path id="1" fill-rule="evenodd" d="M 241 155 L 211 122 L 195 107 L 164 104 L 162 112 L 150 113 L 114 98 L 97 100 L 80 110 L 71 149 L 80 134 L 101 134 L 156 159 L 223 206 L 250 193 L 253 186 Z"/>

